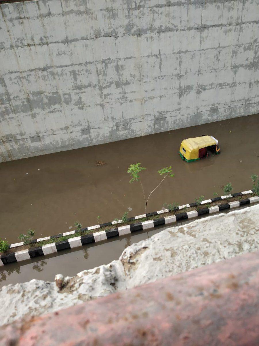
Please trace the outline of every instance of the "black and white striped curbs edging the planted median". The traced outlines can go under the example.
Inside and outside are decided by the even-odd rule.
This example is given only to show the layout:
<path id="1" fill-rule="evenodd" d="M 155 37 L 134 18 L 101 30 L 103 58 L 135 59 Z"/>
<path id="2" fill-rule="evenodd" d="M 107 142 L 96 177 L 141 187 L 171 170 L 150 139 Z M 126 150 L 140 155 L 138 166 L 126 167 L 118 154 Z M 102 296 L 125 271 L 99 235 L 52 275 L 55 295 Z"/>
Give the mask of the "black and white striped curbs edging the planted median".
<path id="1" fill-rule="evenodd" d="M 202 204 L 208 204 L 208 203 L 215 202 L 215 201 L 219 201 L 219 200 L 224 200 L 224 199 L 230 198 L 230 197 L 242 196 L 242 195 L 250 194 L 250 193 L 253 193 L 253 191 L 249 190 L 249 191 L 237 192 L 237 193 L 233 193 L 232 195 L 207 199 L 207 200 L 202 201 L 201 205 Z M 258 196 L 249 197 L 249 198 L 243 199 L 242 201 L 226 202 L 224 204 L 221 204 L 220 206 L 211 206 L 208 208 L 202 208 L 201 207 L 198 211 L 196 211 L 196 210 L 186 211 L 186 212 L 178 213 L 176 215 L 161 217 L 161 218 L 158 218 L 155 220 L 136 222 L 136 223 L 132 223 L 130 225 L 115 227 L 115 228 L 112 228 L 109 230 L 103 230 L 103 231 L 87 234 L 84 236 L 69 238 L 68 240 L 65 240 L 62 242 L 53 242 L 53 243 L 46 244 L 46 245 L 39 246 L 39 247 L 34 247 L 34 248 L 22 250 L 22 251 L 16 251 L 16 252 L 9 253 L 7 255 L 1 255 L 0 266 L 6 265 L 9 263 L 13 263 L 13 262 L 20 262 L 20 261 L 29 260 L 30 258 L 33 258 L 33 257 L 49 255 L 49 254 L 56 253 L 56 252 L 61 251 L 61 250 L 79 247 L 79 246 L 89 244 L 89 243 L 98 243 L 102 240 L 107 240 L 108 238 L 112 238 L 112 237 L 116 237 L 116 236 L 123 236 L 125 234 L 133 233 L 136 231 L 146 230 L 146 229 L 154 228 L 156 226 L 161 226 L 161 225 L 172 224 L 173 222 L 182 221 L 185 219 L 193 219 L 193 218 L 196 218 L 200 215 L 217 213 L 217 212 L 224 210 L 224 209 L 238 208 L 238 207 L 244 206 L 246 204 L 257 203 L 257 202 L 259 202 Z M 181 209 L 185 209 L 185 208 L 196 207 L 196 206 L 197 206 L 196 202 L 190 203 L 190 204 L 184 204 L 183 206 L 178 207 L 176 209 L 176 211 L 181 210 Z M 149 216 L 161 215 L 161 214 L 167 213 L 167 212 L 169 212 L 169 209 L 164 209 L 164 210 L 154 211 L 152 213 L 147 213 L 147 216 L 149 217 Z M 138 219 L 142 219 L 144 217 L 146 217 L 145 214 L 138 215 L 138 216 L 129 218 L 128 221 L 133 221 L 133 220 L 135 221 Z M 107 222 L 106 224 L 101 224 L 101 225 L 96 225 L 96 226 L 90 226 L 90 227 L 84 228 L 82 230 L 83 231 L 95 230 L 98 228 L 116 225 L 119 223 L 121 223 L 121 220 Z M 54 236 L 38 238 L 38 239 L 33 240 L 32 242 L 37 243 L 37 242 L 41 242 L 42 240 L 48 240 L 48 239 L 54 240 L 54 239 L 58 239 L 59 237 L 73 235 L 76 232 L 77 231 L 74 230 L 74 231 L 65 232 L 62 234 L 54 235 Z M 22 246 L 22 245 L 23 245 L 23 243 L 11 244 L 10 248 L 15 248 L 15 247 Z"/>

